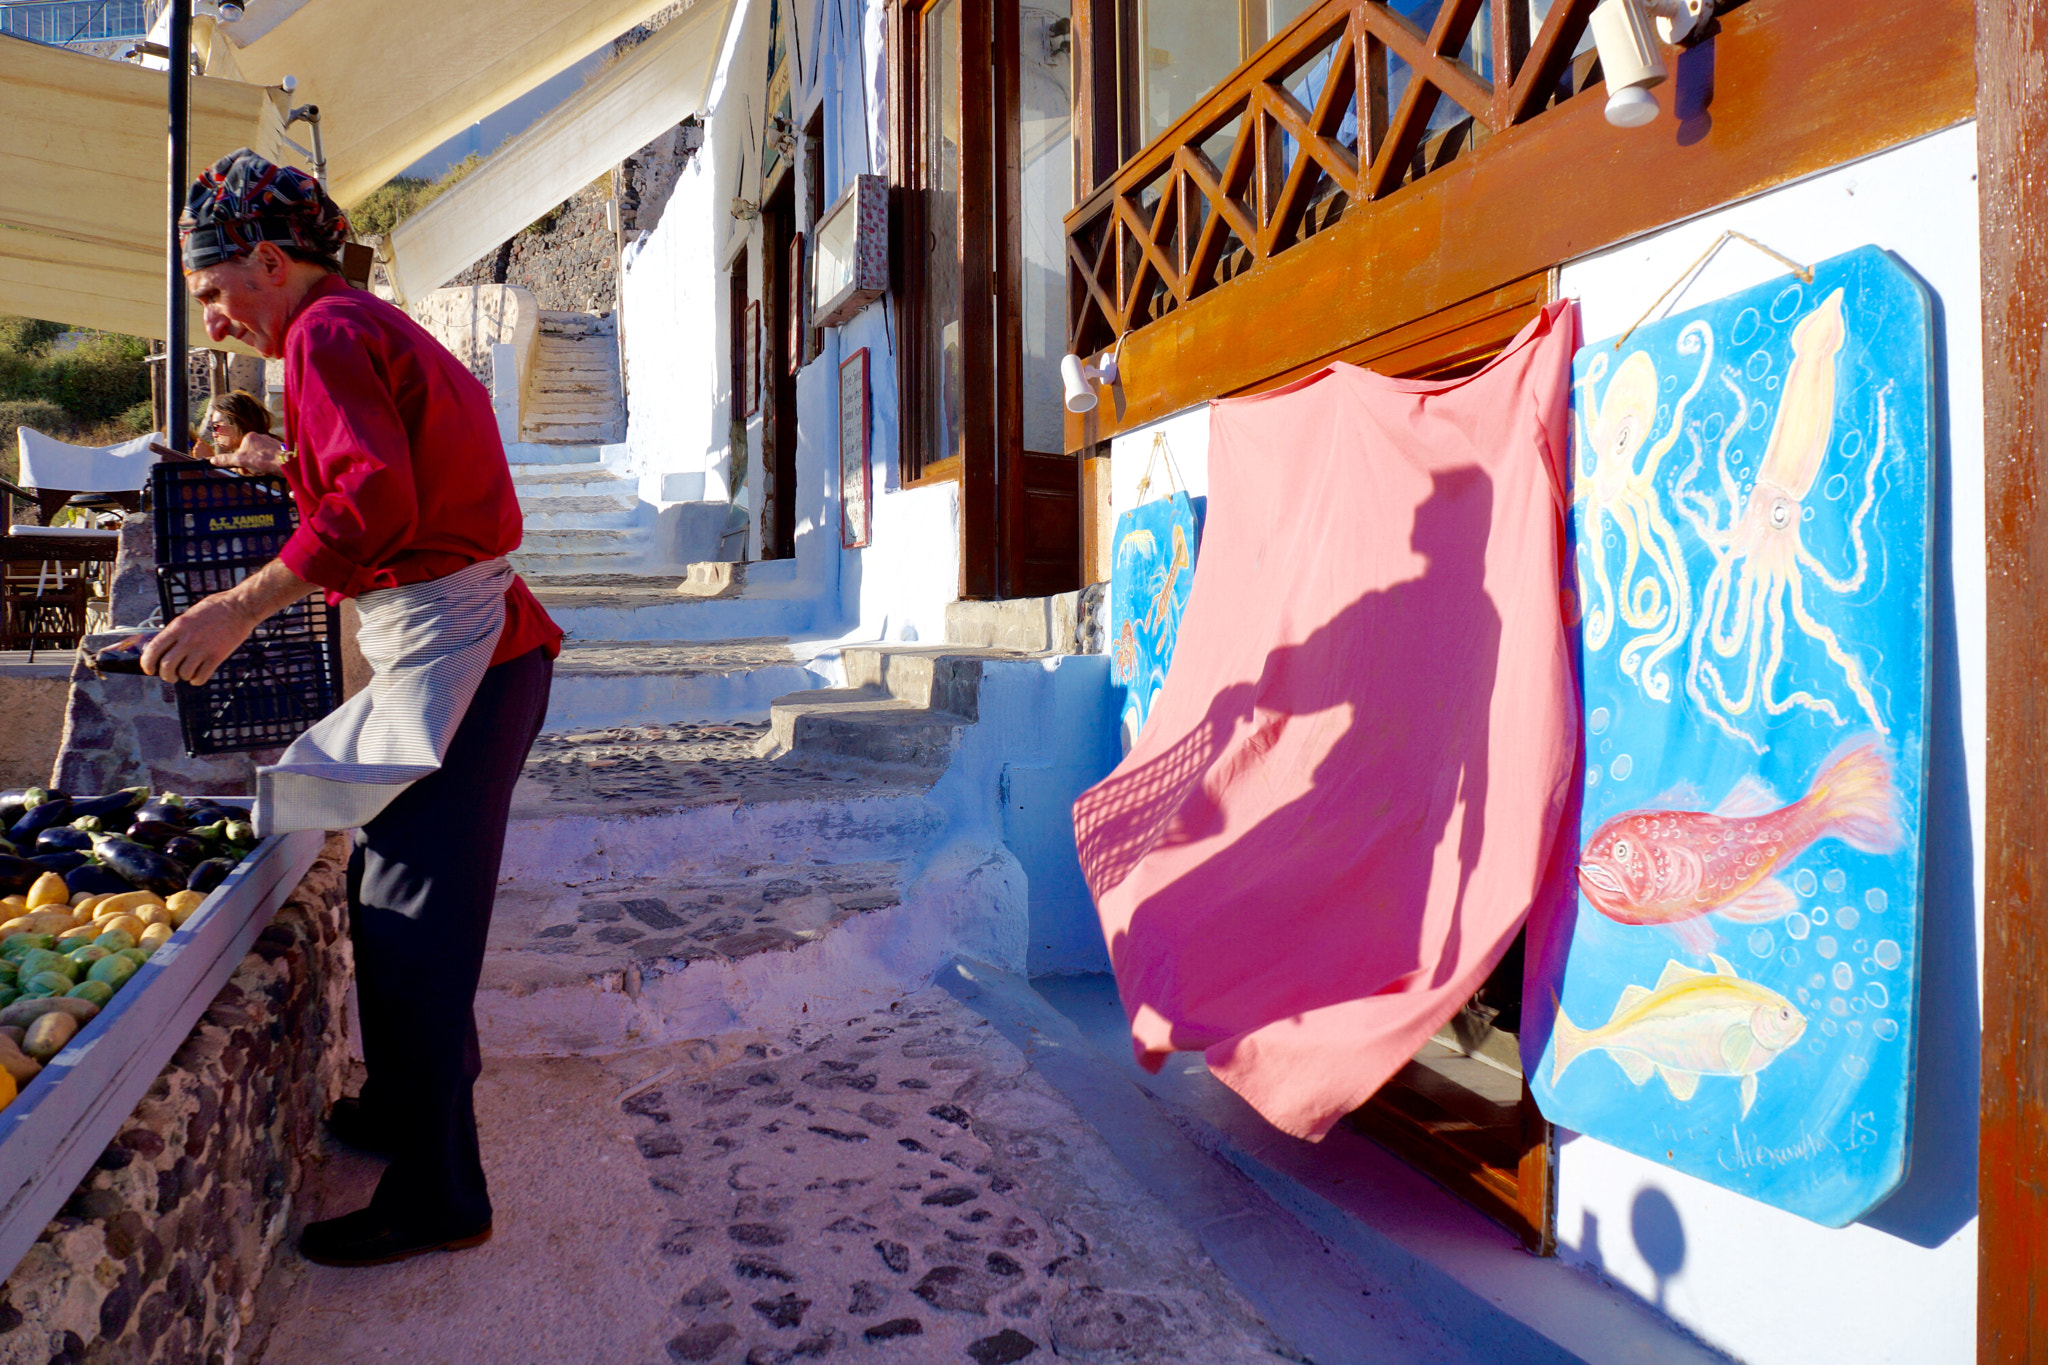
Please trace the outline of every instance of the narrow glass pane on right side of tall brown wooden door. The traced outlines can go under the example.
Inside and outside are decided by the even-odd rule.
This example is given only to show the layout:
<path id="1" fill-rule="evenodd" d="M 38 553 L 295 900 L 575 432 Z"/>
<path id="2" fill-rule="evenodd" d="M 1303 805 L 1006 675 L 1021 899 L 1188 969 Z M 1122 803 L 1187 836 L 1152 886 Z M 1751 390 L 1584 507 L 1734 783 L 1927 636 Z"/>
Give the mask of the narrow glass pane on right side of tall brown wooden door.
<path id="1" fill-rule="evenodd" d="M 1069 0 L 1018 12 L 1018 207 L 1022 213 L 1024 448 L 1065 450 L 1059 358 L 1067 354 L 1067 229 L 1073 203 Z"/>

